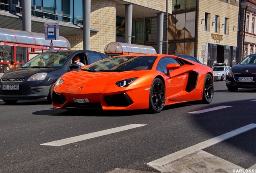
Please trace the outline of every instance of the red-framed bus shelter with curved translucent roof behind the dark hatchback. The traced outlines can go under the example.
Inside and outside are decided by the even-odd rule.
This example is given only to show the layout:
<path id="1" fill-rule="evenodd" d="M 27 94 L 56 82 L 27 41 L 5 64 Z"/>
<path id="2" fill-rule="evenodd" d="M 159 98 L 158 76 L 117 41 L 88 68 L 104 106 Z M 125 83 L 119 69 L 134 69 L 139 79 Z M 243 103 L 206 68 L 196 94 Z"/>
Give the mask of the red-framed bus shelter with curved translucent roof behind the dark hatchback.
<path id="1" fill-rule="evenodd" d="M 49 51 L 50 40 L 42 33 L 0 28 L 0 72 L 8 71 L 11 60 L 19 66 L 35 55 Z M 55 50 L 70 49 L 70 43 L 63 36 L 53 40 Z"/>

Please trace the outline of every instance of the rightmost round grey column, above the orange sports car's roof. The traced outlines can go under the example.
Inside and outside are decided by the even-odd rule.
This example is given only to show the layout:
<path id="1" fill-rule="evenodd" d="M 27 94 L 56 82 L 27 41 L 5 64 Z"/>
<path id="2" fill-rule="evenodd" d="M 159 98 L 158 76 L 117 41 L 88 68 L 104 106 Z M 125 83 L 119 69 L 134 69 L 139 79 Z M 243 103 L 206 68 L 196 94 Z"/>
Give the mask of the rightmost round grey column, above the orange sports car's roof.
<path id="1" fill-rule="evenodd" d="M 163 13 L 157 13 L 157 53 L 163 50 Z"/>

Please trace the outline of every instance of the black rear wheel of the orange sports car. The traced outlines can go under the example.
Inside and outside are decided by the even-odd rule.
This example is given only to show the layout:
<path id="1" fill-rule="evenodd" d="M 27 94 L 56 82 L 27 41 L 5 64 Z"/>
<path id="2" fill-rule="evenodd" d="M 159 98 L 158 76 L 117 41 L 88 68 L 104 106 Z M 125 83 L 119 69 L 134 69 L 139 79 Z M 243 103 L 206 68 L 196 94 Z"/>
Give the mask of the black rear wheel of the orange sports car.
<path id="1" fill-rule="evenodd" d="M 209 104 L 213 100 L 213 78 L 210 74 L 206 74 L 204 78 L 204 89 L 202 96 L 202 103 Z"/>

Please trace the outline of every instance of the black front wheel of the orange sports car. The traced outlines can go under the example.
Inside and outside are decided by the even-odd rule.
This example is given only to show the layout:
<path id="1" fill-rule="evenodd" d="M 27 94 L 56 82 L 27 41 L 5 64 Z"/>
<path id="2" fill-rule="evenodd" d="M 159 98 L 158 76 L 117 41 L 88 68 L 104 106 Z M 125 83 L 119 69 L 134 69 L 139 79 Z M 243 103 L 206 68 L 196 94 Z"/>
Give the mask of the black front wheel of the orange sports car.
<path id="1" fill-rule="evenodd" d="M 149 109 L 154 113 L 159 113 L 163 110 L 165 104 L 165 87 L 159 78 L 155 78 L 151 84 L 149 95 Z"/>

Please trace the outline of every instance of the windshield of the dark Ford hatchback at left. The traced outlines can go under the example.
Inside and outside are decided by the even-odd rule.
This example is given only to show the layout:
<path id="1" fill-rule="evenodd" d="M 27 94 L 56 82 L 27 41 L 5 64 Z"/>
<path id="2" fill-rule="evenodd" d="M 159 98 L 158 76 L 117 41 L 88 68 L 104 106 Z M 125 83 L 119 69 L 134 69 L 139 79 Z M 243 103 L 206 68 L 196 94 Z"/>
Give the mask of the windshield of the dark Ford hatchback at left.
<path id="1" fill-rule="evenodd" d="M 22 68 L 60 68 L 70 54 L 72 52 L 44 52 L 29 60 Z"/>

